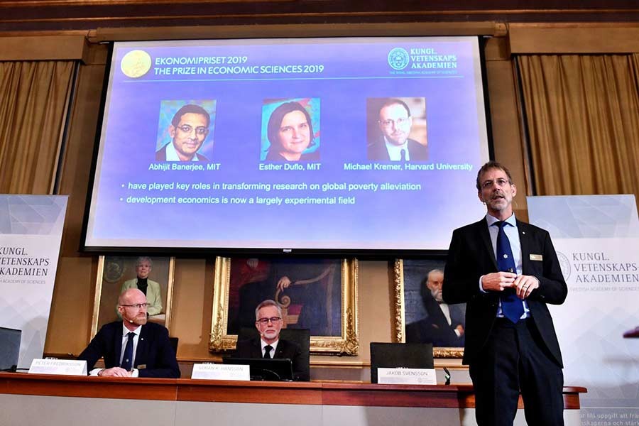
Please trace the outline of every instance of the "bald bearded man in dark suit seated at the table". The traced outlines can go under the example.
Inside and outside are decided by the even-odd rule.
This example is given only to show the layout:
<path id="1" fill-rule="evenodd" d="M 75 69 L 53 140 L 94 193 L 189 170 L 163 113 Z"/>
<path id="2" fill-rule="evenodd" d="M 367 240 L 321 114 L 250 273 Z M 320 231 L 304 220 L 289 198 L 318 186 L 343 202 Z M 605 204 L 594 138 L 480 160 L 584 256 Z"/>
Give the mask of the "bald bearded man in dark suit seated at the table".
<path id="1" fill-rule="evenodd" d="M 168 330 L 146 322 L 146 296 L 137 288 L 122 293 L 118 312 L 122 321 L 105 324 L 77 359 L 87 361 L 91 376 L 180 377 Z M 93 368 L 104 357 L 105 368 Z M 93 369 L 92 369 L 93 368 Z"/>

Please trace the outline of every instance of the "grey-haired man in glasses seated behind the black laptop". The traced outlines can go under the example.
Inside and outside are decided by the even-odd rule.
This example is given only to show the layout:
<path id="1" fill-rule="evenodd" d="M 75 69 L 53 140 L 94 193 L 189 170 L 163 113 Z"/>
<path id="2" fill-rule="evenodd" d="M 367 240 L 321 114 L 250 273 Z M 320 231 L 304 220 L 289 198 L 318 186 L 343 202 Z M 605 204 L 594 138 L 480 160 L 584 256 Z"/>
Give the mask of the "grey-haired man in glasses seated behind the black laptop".
<path id="1" fill-rule="evenodd" d="M 310 380 L 308 366 L 302 365 L 302 348 L 295 342 L 280 339 L 282 308 L 274 300 L 264 300 L 255 310 L 255 327 L 260 337 L 237 342 L 237 358 L 288 358 L 293 361 L 293 378 Z"/>

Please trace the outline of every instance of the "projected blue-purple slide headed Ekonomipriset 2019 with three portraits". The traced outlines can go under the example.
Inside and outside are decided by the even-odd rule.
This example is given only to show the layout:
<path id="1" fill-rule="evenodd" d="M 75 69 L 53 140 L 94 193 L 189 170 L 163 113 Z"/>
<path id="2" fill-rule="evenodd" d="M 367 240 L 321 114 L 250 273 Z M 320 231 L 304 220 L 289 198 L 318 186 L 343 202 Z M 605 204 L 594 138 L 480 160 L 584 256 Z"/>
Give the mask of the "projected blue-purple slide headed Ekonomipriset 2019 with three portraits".
<path id="1" fill-rule="evenodd" d="M 87 250 L 446 250 L 484 207 L 479 40 L 115 43 Z"/>

